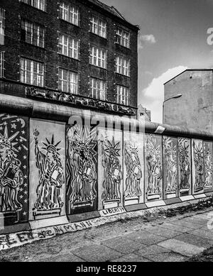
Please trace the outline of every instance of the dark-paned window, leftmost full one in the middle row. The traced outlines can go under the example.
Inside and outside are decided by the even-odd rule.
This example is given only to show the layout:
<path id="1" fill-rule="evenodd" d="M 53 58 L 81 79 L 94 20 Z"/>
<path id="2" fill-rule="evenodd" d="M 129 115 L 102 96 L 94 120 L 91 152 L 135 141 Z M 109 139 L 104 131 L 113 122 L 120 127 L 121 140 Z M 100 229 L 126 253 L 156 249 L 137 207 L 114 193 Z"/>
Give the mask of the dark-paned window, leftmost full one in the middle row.
<path id="1" fill-rule="evenodd" d="M 21 21 L 21 40 L 44 48 L 44 28 L 40 24 L 23 19 Z"/>

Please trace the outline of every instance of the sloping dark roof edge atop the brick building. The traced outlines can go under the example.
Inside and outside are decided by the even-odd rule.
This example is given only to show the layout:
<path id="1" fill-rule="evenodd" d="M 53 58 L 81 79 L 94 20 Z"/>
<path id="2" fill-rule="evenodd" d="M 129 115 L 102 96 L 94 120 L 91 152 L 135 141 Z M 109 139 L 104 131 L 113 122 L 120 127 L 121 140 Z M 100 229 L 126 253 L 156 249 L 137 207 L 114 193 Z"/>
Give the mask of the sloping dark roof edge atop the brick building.
<path id="1" fill-rule="evenodd" d="M 92 4 L 92 5 L 96 6 L 97 8 L 104 11 L 104 13 L 108 13 L 108 15 L 113 16 L 118 21 L 121 21 L 121 23 L 128 25 L 130 28 L 133 28 L 136 31 L 140 30 L 139 26 L 133 25 L 132 23 L 127 21 L 124 18 L 124 16 L 122 16 L 121 13 L 114 6 L 108 6 L 107 4 L 104 4 L 104 3 L 102 3 L 102 1 L 99 1 L 99 0 L 86 0 L 86 1 L 81 0 L 81 1 L 84 2 L 84 4 L 87 4 L 87 5 Z"/>

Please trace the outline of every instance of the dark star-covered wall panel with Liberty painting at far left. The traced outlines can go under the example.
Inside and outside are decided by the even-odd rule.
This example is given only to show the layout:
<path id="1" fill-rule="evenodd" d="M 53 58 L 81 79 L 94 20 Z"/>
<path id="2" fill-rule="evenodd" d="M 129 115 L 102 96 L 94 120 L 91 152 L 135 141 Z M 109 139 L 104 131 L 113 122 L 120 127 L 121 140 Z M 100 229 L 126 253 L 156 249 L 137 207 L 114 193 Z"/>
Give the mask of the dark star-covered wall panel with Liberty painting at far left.
<path id="1" fill-rule="evenodd" d="M 28 220 L 27 160 L 27 118 L 0 114 L 0 212 L 11 223 Z"/>

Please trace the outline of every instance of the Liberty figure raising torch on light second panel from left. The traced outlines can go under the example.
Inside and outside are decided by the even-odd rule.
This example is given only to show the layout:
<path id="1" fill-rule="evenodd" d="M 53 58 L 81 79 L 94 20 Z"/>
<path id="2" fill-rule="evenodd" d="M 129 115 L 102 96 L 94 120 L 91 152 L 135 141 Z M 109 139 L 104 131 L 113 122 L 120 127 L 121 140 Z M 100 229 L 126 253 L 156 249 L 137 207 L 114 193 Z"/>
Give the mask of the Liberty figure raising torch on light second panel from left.
<path id="1" fill-rule="evenodd" d="M 51 141 L 46 138 L 43 142 L 45 153 L 38 147 L 39 132 L 35 129 L 35 156 L 36 167 L 39 172 L 39 184 L 36 190 L 37 199 L 34 204 L 35 210 L 46 211 L 61 209 L 63 206 L 60 192 L 65 182 L 63 168 L 60 161 L 60 148 L 57 148 L 60 142 L 55 144 L 54 135 Z"/>

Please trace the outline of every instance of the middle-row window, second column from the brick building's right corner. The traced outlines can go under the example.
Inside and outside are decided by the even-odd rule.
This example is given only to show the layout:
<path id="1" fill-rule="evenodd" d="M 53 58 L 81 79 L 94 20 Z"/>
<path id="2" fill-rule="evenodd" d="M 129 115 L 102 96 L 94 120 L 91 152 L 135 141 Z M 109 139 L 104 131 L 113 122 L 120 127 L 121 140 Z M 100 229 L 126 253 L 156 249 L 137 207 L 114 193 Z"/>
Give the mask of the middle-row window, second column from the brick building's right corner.
<path id="1" fill-rule="evenodd" d="M 89 51 L 89 63 L 107 69 L 107 51 L 95 46 L 90 46 Z"/>

